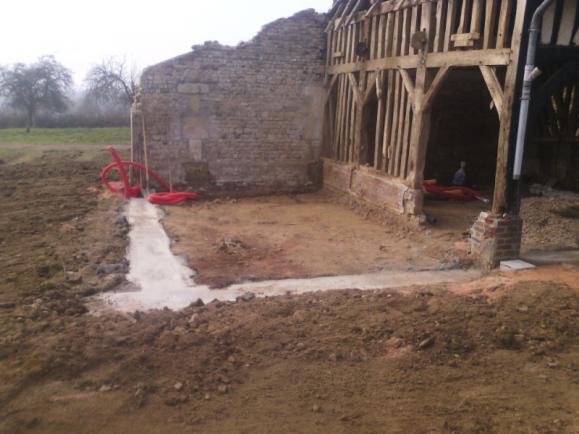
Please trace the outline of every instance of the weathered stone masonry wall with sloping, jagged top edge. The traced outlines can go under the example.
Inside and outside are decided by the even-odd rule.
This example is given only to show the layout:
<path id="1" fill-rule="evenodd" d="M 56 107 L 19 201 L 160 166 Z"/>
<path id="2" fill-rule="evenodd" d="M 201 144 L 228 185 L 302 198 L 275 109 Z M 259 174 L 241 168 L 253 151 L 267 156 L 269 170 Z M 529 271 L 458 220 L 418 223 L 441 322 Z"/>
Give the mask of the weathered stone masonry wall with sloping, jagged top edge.
<path id="1" fill-rule="evenodd" d="M 306 10 L 238 47 L 205 43 L 148 68 L 134 151 L 144 117 L 149 164 L 176 185 L 228 195 L 319 187 L 325 25 Z"/>

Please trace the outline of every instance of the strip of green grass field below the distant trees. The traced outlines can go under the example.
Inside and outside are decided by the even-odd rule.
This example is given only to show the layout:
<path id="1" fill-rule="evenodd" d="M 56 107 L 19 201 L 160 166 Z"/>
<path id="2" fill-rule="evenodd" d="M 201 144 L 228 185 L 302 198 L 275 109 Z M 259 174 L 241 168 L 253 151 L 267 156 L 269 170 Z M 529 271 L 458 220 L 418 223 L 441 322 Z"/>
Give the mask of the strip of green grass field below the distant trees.
<path id="1" fill-rule="evenodd" d="M 128 127 L 0 129 L 0 145 L 122 145 L 130 137 Z"/>

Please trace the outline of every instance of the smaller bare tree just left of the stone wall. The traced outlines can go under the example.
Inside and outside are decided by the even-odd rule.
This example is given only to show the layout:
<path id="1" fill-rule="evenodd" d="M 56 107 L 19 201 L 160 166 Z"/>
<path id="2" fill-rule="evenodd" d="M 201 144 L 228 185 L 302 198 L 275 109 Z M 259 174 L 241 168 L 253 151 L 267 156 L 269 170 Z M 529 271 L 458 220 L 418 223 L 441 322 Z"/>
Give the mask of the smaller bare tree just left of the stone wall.
<path id="1" fill-rule="evenodd" d="M 92 67 L 85 83 L 87 95 L 106 102 L 133 103 L 139 74 L 125 60 L 110 58 Z"/>

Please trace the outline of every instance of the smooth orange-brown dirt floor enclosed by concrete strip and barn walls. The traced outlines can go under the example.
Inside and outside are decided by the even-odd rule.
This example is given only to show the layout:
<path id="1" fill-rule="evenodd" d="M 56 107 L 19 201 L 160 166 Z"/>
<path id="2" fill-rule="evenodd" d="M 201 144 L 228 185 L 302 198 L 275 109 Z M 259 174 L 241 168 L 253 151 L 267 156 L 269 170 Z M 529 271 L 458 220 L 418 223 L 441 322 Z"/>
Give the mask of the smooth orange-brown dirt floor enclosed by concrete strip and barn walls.
<path id="1" fill-rule="evenodd" d="M 215 288 L 470 265 L 466 224 L 463 230 L 456 224 L 417 228 L 329 192 L 216 200 L 165 211 L 173 250 L 188 258 L 197 282 Z"/>

